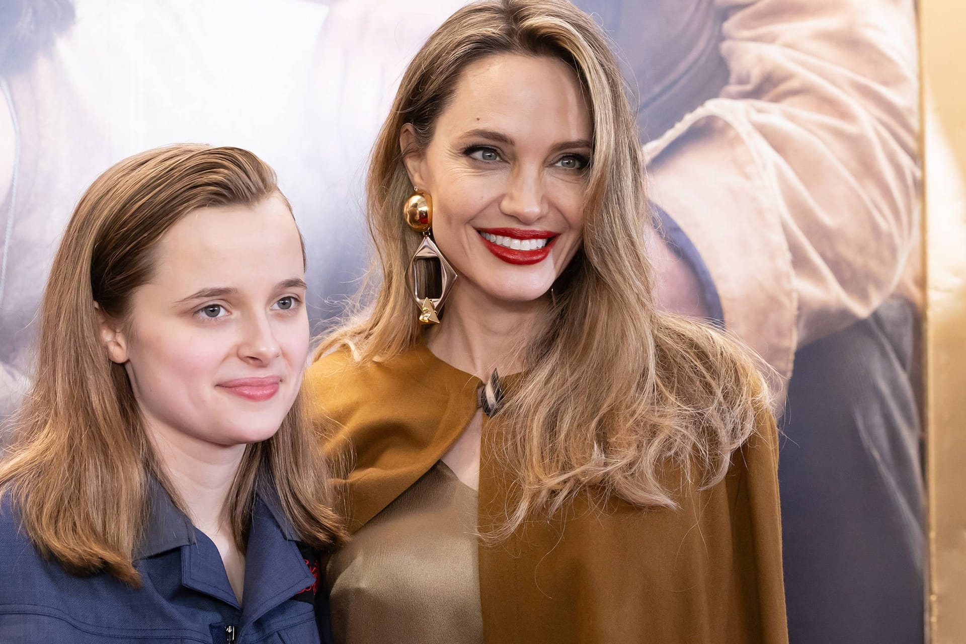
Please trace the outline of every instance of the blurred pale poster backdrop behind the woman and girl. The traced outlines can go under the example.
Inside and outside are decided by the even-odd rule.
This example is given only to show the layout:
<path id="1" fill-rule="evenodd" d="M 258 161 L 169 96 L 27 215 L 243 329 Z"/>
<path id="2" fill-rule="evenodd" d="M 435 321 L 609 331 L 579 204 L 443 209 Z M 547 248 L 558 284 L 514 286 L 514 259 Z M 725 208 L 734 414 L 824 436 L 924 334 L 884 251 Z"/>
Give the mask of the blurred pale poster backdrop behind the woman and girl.
<path id="1" fill-rule="evenodd" d="M 158 145 L 275 168 L 323 330 L 368 262 L 362 181 L 399 76 L 463 4 L 0 3 L 0 414 L 30 381 L 74 203 Z M 781 375 L 791 641 L 923 641 L 916 3 L 576 4 L 621 60 L 662 231 L 712 318 Z"/>

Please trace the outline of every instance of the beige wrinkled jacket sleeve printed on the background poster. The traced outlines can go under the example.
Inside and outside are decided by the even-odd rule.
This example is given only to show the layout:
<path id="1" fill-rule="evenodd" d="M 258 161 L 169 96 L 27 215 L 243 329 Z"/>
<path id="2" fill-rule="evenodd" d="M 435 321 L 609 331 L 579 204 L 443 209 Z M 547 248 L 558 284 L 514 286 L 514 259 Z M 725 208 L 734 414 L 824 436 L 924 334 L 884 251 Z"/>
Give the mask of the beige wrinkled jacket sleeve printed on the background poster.
<path id="1" fill-rule="evenodd" d="M 716 0 L 728 85 L 644 148 L 725 325 L 787 378 L 866 318 L 918 242 L 913 0 Z"/>

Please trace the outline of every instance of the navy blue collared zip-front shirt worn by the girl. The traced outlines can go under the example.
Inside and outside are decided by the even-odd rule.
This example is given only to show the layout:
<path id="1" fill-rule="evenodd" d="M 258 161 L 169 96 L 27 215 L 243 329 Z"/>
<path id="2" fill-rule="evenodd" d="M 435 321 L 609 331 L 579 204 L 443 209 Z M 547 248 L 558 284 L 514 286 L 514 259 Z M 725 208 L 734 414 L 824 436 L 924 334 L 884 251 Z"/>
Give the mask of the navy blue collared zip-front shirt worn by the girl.
<path id="1" fill-rule="evenodd" d="M 109 574 L 76 576 L 45 561 L 0 500 L 0 642 L 320 642 L 327 623 L 318 566 L 271 492 L 260 491 L 245 556 L 244 598 L 232 591 L 217 548 L 154 484 L 134 554 L 142 585 Z M 322 627 L 327 632 L 327 624 Z M 234 638 L 234 639 L 233 639 Z M 327 637 L 326 637 L 327 639 Z"/>

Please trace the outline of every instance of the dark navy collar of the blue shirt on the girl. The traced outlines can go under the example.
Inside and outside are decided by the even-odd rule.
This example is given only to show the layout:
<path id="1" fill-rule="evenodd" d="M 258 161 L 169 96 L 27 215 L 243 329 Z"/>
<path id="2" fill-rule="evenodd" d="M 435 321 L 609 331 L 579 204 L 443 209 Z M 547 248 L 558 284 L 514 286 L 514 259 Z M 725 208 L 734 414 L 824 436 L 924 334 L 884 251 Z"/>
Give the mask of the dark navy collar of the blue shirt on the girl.
<path id="1" fill-rule="evenodd" d="M 261 501 L 269 509 L 271 518 L 278 524 L 282 534 L 289 541 L 299 541 L 292 521 L 282 510 L 278 492 L 271 485 L 269 477 L 259 477 L 256 486 L 256 502 Z M 195 544 L 195 527 L 191 519 L 178 509 L 167 490 L 156 479 L 148 476 L 148 516 L 144 530 L 134 547 L 134 559 L 153 557 L 176 547 Z M 253 515 L 254 518 L 254 515 Z"/>

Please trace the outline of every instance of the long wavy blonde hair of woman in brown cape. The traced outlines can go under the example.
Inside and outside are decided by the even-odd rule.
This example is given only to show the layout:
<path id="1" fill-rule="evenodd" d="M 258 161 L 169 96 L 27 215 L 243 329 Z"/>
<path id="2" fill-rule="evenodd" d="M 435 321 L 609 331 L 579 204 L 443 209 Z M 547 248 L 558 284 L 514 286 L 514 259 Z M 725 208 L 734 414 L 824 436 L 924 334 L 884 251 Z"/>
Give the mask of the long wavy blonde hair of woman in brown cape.
<path id="1" fill-rule="evenodd" d="M 450 16 L 403 75 L 373 149 L 368 225 L 378 257 L 364 310 L 317 355 L 340 346 L 361 362 L 419 342 L 407 266 L 419 235 L 404 223 L 412 192 L 399 135 L 412 124 L 425 149 L 462 70 L 494 54 L 549 56 L 569 65 L 590 105 L 593 161 L 582 251 L 565 271 L 549 320 L 526 347 L 526 378 L 498 413 L 497 458 L 513 475 L 516 507 L 497 536 L 553 514 L 594 486 L 638 506 L 674 506 L 668 467 L 703 486 L 768 407 L 745 350 L 701 322 L 656 307 L 645 251 L 649 224 L 639 134 L 626 86 L 601 30 L 569 2 L 478 2 Z M 375 301 L 363 309 L 375 291 Z M 443 322 L 445 323 L 445 322 Z"/>

